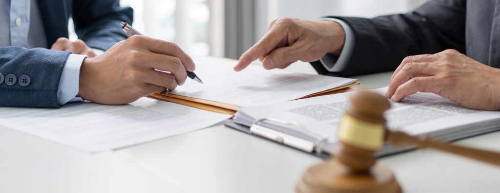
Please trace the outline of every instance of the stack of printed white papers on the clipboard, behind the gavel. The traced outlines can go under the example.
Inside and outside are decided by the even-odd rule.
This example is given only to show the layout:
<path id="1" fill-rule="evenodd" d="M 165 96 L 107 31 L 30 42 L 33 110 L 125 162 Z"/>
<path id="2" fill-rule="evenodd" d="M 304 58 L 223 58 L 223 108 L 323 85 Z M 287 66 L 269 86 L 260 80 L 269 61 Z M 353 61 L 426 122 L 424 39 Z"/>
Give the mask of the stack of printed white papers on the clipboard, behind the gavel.
<path id="1" fill-rule="evenodd" d="M 373 90 L 385 94 L 387 88 Z M 234 121 L 250 125 L 255 119 L 277 118 L 301 123 L 314 132 L 336 141 L 339 121 L 349 107 L 349 93 L 277 103 L 266 106 L 242 107 Z M 449 139 L 450 133 L 459 137 L 460 133 L 476 132 L 500 124 L 500 112 L 480 111 L 460 107 L 454 102 L 435 94 L 417 93 L 405 97 L 402 102 L 390 102 L 391 109 L 385 112 L 387 127 L 403 130 L 409 134 L 429 134 Z M 453 128 L 451 132 L 447 130 Z M 454 132 L 454 133 L 453 133 Z"/>

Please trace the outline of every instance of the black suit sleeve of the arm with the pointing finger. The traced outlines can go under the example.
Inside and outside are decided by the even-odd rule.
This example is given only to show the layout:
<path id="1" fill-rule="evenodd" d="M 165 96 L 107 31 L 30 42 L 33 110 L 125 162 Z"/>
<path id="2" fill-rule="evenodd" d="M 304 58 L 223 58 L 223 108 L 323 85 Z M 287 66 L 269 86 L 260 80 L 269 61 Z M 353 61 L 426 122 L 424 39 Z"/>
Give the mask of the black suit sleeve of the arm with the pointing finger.
<path id="1" fill-rule="evenodd" d="M 354 33 L 352 55 L 339 73 L 311 63 L 320 74 L 349 77 L 393 71 L 410 55 L 445 49 L 465 53 L 465 0 L 430 0 L 406 14 L 374 18 L 337 17 Z"/>

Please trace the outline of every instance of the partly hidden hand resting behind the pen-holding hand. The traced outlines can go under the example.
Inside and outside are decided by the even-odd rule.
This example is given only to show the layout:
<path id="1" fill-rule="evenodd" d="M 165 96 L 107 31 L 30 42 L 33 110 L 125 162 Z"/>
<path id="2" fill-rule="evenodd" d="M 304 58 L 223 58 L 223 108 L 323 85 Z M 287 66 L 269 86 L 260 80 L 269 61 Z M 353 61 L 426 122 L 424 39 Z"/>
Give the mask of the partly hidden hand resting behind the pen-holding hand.
<path id="1" fill-rule="evenodd" d="M 88 47 L 85 42 L 81 40 L 76 40 L 74 42 L 70 41 L 67 38 L 61 37 L 52 44 L 51 50 L 60 50 L 60 51 L 71 51 L 73 54 L 87 55 L 89 58 L 93 58 L 97 56 L 92 48 Z"/>

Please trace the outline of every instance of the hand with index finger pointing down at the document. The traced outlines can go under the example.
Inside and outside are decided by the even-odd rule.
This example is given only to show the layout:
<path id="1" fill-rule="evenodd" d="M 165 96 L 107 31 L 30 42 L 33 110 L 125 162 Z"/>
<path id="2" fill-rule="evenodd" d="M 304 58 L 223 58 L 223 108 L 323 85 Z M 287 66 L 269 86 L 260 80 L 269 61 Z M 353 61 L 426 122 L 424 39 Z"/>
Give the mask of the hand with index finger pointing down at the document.
<path id="1" fill-rule="evenodd" d="M 305 21 L 280 18 L 271 22 L 269 31 L 239 58 L 235 71 L 241 71 L 256 59 L 265 69 L 286 68 L 298 60 L 313 62 L 327 53 L 340 55 L 345 32 L 333 21 Z"/>

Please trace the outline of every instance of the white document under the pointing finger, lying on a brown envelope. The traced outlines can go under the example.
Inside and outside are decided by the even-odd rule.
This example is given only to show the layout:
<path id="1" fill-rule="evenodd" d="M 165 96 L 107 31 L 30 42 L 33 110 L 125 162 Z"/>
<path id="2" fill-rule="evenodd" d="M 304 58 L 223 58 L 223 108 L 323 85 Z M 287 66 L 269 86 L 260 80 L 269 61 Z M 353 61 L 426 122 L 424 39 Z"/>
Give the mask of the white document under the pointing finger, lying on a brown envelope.
<path id="1" fill-rule="evenodd" d="M 201 58 L 194 62 L 196 75 L 204 84 L 187 80 L 172 94 L 238 106 L 255 106 L 293 100 L 355 81 L 279 69 L 267 71 L 252 65 L 242 72 L 234 72 L 232 68 L 236 62 L 227 59 Z"/>

